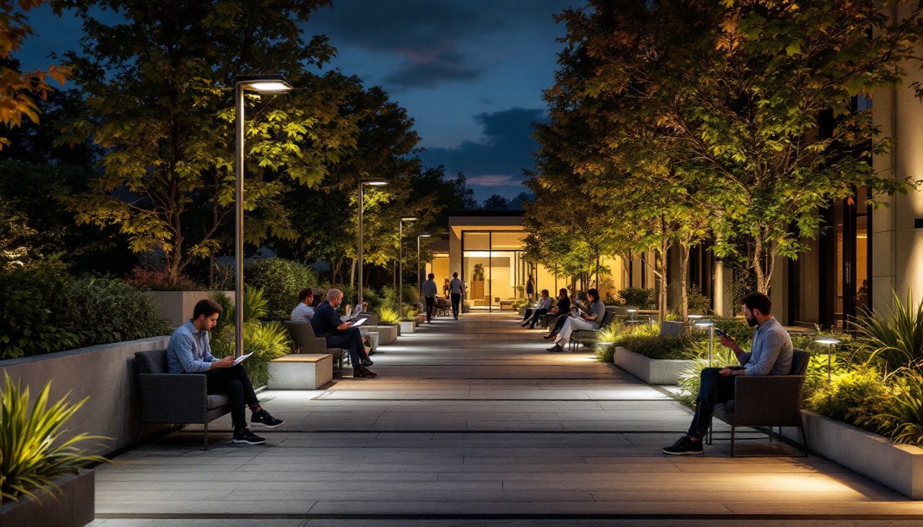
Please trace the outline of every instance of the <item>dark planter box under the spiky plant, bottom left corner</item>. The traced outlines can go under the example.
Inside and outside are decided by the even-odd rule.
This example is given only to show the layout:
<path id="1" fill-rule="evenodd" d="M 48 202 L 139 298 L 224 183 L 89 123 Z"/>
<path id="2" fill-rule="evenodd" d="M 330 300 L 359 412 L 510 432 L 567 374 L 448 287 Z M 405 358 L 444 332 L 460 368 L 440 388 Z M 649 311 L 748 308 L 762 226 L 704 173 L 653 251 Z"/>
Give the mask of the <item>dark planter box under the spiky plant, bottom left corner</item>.
<path id="1" fill-rule="evenodd" d="M 54 483 L 61 487 L 61 494 L 51 496 L 43 492 L 38 494 L 41 501 L 24 496 L 16 501 L 5 500 L 0 507 L 0 527 L 82 527 L 93 521 L 96 514 L 93 471 L 66 474 Z"/>

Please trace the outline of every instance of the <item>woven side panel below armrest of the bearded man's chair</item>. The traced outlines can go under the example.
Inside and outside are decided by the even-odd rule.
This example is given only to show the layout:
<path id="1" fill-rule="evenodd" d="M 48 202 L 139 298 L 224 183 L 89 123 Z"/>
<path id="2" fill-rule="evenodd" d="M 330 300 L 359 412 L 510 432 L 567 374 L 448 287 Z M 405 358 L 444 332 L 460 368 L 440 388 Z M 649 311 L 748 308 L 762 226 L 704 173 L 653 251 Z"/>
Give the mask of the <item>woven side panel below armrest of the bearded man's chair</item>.
<path id="1" fill-rule="evenodd" d="M 795 426 L 800 423 L 800 375 L 740 376 L 734 383 L 734 421 L 738 426 Z"/>

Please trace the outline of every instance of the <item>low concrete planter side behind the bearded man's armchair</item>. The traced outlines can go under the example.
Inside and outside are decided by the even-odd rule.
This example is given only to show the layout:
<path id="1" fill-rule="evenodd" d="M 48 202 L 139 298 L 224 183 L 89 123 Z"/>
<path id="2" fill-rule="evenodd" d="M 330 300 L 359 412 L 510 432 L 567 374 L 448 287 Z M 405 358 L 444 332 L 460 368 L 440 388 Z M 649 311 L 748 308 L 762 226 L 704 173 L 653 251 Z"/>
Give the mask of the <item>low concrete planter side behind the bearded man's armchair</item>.
<path id="1" fill-rule="evenodd" d="M 906 497 L 923 499 L 923 449 L 895 445 L 887 437 L 807 410 L 801 418 L 809 449 Z M 783 436 L 801 443 L 797 428 L 783 428 Z"/>

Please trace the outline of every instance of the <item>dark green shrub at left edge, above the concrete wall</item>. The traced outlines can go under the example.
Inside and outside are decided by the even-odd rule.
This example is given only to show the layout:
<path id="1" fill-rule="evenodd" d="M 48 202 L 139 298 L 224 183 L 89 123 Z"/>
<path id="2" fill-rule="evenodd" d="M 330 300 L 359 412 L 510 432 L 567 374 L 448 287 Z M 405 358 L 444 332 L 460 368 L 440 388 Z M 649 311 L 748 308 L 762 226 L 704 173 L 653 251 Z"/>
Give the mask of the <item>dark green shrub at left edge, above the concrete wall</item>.
<path id="1" fill-rule="evenodd" d="M 58 258 L 29 268 L 0 268 L 0 352 L 11 359 L 77 347 L 78 336 L 61 319 L 66 267 Z"/>

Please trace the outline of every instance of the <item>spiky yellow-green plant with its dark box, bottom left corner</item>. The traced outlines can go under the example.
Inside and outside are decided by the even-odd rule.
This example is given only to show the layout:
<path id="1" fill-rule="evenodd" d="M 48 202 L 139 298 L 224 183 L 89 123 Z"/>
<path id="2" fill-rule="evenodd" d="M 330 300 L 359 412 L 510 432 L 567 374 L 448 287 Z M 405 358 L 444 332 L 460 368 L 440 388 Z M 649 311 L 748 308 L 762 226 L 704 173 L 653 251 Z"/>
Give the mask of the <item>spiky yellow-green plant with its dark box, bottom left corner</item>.
<path id="1" fill-rule="evenodd" d="M 89 455 L 77 443 L 104 437 L 68 435 L 67 420 L 86 399 L 48 405 L 47 382 L 30 408 L 29 387 L 20 389 L 5 373 L 0 402 L 0 525 L 79 526 L 93 521 L 93 471 L 83 467 L 108 460 Z"/>

